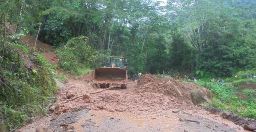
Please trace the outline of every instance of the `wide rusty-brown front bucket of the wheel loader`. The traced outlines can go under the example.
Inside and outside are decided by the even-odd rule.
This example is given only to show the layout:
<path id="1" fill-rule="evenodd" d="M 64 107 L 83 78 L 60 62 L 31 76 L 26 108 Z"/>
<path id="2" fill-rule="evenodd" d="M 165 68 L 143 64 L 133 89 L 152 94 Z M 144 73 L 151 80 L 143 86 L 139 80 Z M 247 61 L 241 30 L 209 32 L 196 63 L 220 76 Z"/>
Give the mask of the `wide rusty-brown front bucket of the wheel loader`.
<path id="1" fill-rule="evenodd" d="M 121 68 L 102 67 L 94 71 L 94 83 L 126 85 L 127 80 L 127 72 Z"/>

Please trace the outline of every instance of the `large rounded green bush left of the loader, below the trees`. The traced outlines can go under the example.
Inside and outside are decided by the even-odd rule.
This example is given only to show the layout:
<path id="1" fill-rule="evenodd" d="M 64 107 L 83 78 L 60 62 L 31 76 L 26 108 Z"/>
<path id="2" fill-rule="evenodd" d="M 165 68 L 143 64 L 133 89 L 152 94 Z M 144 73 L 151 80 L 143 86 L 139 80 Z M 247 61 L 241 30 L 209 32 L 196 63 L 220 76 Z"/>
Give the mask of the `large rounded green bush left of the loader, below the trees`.
<path id="1" fill-rule="evenodd" d="M 84 68 L 101 67 L 105 54 L 94 50 L 87 37 L 79 36 L 68 40 L 67 44 L 57 51 L 60 67 L 69 73 L 83 73 Z"/>

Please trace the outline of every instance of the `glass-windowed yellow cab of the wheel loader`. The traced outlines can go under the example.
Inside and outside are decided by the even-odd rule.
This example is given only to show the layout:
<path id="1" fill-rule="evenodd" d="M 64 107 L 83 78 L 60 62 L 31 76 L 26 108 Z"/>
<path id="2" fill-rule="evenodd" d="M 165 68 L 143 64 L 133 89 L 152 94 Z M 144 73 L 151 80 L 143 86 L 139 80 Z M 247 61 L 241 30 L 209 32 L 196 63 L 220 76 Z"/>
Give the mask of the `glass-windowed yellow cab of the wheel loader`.
<path id="1" fill-rule="evenodd" d="M 127 69 L 128 63 L 127 59 L 124 57 L 115 57 L 115 56 L 110 56 L 109 58 L 106 59 L 105 61 L 105 66 L 106 67 L 118 67 L 121 69 Z"/>

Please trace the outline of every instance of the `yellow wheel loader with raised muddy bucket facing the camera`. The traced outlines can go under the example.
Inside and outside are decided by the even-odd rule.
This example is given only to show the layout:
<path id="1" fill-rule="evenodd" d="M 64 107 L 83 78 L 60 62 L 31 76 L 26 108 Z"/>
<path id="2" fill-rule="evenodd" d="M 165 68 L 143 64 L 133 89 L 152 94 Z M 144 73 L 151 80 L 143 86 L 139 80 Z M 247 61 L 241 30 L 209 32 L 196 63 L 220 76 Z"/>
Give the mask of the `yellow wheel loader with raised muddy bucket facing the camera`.
<path id="1" fill-rule="evenodd" d="M 100 88 L 108 88 L 110 85 L 120 85 L 126 89 L 128 81 L 128 63 L 123 56 L 110 56 L 105 60 L 105 66 L 94 70 L 93 83 L 100 85 Z"/>

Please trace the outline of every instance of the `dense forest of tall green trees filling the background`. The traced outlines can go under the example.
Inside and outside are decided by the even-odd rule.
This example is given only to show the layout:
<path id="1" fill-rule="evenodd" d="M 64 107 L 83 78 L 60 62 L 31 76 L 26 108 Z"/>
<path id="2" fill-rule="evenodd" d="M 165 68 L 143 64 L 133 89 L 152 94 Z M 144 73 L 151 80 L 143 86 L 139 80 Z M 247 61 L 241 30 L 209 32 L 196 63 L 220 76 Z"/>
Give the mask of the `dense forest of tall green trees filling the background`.
<path id="1" fill-rule="evenodd" d="M 100 57 L 127 57 L 130 74 L 164 71 L 192 76 L 200 70 L 230 76 L 256 63 L 255 4 L 250 0 L 167 0 L 164 4 L 3 0 L 6 16 L 1 18 L 15 24 L 15 32 L 34 35 L 42 24 L 39 39 L 56 47 L 85 36 Z"/>

